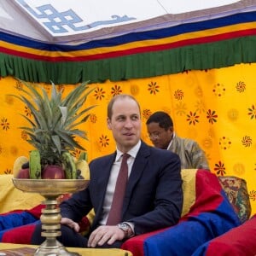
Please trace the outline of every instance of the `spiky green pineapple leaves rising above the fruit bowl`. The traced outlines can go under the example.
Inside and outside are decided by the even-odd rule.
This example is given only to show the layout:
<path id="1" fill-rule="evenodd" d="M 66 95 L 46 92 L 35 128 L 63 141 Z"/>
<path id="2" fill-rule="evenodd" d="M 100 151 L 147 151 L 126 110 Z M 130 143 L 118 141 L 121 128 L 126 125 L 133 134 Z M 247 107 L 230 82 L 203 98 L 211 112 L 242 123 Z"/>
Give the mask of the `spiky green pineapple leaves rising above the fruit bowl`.
<path id="1" fill-rule="evenodd" d="M 76 86 L 63 99 L 63 90 L 57 90 L 53 82 L 50 93 L 37 84 L 20 82 L 24 88 L 21 88 L 22 94 L 15 97 L 32 113 L 32 119 L 22 115 L 30 126 L 20 129 L 26 131 L 27 142 L 38 148 L 42 164 L 61 164 L 61 153 L 76 148 L 84 150 L 76 138 L 88 140 L 87 134 L 74 128 L 84 123 L 90 116 L 90 109 L 96 107 L 84 108 L 87 96 L 94 90 L 89 90 L 88 82 Z"/>

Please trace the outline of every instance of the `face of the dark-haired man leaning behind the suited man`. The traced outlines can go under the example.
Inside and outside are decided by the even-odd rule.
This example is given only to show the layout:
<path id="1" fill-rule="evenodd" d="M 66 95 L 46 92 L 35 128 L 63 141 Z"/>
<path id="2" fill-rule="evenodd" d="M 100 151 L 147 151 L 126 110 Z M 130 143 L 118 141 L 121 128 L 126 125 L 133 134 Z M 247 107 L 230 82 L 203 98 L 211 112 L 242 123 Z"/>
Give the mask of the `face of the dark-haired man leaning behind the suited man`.
<path id="1" fill-rule="evenodd" d="M 155 148 L 167 149 L 172 140 L 173 129 L 170 127 L 167 131 L 161 128 L 158 123 L 150 123 L 147 125 L 148 136 Z"/>

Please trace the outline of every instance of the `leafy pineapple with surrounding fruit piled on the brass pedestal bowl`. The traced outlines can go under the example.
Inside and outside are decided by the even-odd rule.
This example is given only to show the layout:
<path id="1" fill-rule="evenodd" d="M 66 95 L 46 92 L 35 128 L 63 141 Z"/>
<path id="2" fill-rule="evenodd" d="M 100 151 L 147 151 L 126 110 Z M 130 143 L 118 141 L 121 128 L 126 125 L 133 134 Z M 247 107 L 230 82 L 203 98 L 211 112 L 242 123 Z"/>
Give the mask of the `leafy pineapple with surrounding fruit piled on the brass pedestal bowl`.
<path id="1" fill-rule="evenodd" d="M 78 171 L 81 171 L 77 170 L 71 152 L 81 150 L 79 159 L 85 160 L 85 149 L 76 138 L 88 140 L 86 132 L 77 128 L 89 118 L 88 112 L 95 107 L 83 108 L 92 91 L 89 90 L 88 82 L 79 84 L 65 97 L 63 90 L 58 91 L 53 82 L 49 94 L 37 84 L 20 82 L 24 84 L 21 89 L 23 94 L 15 97 L 24 102 L 32 113 L 32 119 L 21 114 L 29 126 L 22 126 L 20 129 L 26 131 L 29 137 L 27 142 L 34 148 L 29 154 L 27 166 L 23 164 L 20 168 L 20 171 L 26 169 L 29 173 L 20 177 L 78 178 Z M 24 161 L 24 157 L 22 160 Z M 19 166 L 17 163 L 15 165 Z"/>

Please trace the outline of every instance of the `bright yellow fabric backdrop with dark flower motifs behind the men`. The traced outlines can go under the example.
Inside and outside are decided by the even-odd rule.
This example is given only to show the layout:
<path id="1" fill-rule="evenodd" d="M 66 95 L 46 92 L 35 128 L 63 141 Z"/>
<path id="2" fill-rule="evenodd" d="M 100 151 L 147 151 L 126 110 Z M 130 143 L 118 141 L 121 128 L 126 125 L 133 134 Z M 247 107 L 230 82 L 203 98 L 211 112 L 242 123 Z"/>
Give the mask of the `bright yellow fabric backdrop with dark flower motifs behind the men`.
<path id="1" fill-rule="evenodd" d="M 116 94 L 128 93 L 142 108 L 143 140 L 150 144 L 145 122 L 150 113 L 170 113 L 180 137 L 196 140 L 207 154 L 211 172 L 218 176 L 236 175 L 247 180 L 253 213 L 256 212 L 256 64 L 188 71 L 147 79 L 90 84 L 93 92 L 85 107 L 96 104 L 83 128 L 89 141 L 83 141 L 89 160 L 113 152 L 115 144 L 106 125 L 107 104 Z M 49 84 L 41 84 L 47 90 Z M 10 95 L 19 95 L 20 86 L 11 77 L 0 79 L 0 173 L 12 173 L 15 159 L 28 156 L 31 146 L 27 125 L 20 113 L 31 113 Z M 58 84 L 64 92 L 74 85 Z M 79 152 L 73 152 L 74 155 Z"/>

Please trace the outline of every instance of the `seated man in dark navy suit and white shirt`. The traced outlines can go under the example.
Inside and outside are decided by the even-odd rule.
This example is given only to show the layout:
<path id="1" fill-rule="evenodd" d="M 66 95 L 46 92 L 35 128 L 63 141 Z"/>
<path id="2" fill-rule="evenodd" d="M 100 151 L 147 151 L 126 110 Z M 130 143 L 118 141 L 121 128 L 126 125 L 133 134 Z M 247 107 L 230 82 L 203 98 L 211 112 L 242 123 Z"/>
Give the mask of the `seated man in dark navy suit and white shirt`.
<path id="1" fill-rule="evenodd" d="M 108 129 L 116 151 L 90 162 L 90 184 L 61 204 L 61 237 L 67 247 L 120 247 L 125 239 L 177 224 L 183 207 L 181 166 L 177 154 L 141 141 L 142 120 L 136 99 L 114 96 L 108 104 Z M 128 182 L 119 222 L 108 224 L 108 213 L 123 154 L 129 154 Z M 79 220 L 91 209 L 96 215 L 87 237 Z M 41 243 L 40 227 L 32 243 Z"/>

